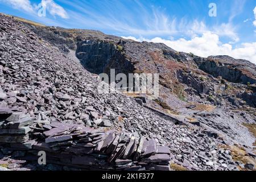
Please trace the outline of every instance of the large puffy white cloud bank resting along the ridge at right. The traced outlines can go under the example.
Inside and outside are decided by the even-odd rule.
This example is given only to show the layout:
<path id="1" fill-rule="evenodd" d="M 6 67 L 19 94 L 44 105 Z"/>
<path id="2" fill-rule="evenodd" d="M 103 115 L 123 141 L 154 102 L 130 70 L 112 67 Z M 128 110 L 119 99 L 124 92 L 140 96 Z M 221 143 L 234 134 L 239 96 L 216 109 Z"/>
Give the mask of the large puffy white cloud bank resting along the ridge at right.
<path id="1" fill-rule="evenodd" d="M 192 52 L 197 56 L 208 57 L 216 55 L 229 55 L 236 59 L 246 59 L 256 64 L 256 42 L 242 43 L 240 47 L 234 48 L 231 44 L 220 42 L 219 36 L 213 32 L 205 32 L 202 36 L 196 36 L 191 40 L 178 39 L 166 40 L 159 37 L 154 39 L 136 39 L 133 36 L 123 37 L 135 41 L 147 41 L 154 43 L 164 43 L 176 51 Z"/>

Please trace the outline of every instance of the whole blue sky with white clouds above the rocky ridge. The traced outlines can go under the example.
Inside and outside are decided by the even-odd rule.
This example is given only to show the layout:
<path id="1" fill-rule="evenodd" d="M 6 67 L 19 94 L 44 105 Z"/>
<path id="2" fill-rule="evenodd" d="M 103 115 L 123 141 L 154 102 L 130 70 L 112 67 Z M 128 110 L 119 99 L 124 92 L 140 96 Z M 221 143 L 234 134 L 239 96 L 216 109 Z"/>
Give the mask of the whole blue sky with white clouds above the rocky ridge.
<path id="1" fill-rule="evenodd" d="M 38 16 L 39 3 L 45 17 Z M 216 17 L 208 14 L 210 3 L 216 4 Z M 2 13 L 49 26 L 100 30 L 199 56 L 256 63 L 255 0 L 0 0 L 0 5 Z"/>

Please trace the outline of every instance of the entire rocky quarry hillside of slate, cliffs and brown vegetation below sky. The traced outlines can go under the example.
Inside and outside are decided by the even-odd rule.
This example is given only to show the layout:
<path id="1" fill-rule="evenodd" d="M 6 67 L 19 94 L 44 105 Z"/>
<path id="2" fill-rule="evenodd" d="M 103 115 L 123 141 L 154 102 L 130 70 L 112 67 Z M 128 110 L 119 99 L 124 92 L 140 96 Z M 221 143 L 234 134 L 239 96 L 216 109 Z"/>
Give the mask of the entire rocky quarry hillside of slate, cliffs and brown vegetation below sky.
<path id="1" fill-rule="evenodd" d="M 2 14 L 0 39 L 0 169 L 254 169 L 249 61 Z M 112 68 L 159 73 L 160 97 L 98 93 Z"/>

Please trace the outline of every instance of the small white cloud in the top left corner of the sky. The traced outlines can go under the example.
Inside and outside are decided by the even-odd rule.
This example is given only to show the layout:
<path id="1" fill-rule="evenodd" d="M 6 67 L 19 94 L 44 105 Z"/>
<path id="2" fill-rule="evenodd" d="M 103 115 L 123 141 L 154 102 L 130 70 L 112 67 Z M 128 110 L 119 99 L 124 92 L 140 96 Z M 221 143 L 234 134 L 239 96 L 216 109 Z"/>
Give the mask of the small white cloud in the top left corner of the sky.
<path id="1" fill-rule="evenodd" d="M 7 3 L 17 10 L 24 10 L 28 13 L 34 12 L 34 9 L 29 0 L 0 0 L 0 2 Z"/>

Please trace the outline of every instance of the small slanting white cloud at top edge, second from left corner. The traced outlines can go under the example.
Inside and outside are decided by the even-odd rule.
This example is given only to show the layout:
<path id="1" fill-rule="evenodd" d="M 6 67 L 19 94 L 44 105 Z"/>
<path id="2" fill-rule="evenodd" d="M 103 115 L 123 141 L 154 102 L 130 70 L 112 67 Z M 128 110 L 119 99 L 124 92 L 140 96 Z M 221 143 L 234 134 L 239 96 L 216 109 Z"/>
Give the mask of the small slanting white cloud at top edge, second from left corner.
<path id="1" fill-rule="evenodd" d="M 53 0 L 42 0 L 41 3 L 43 7 L 46 7 L 46 10 L 48 10 L 51 15 L 58 15 L 61 18 L 69 18 L 64 8 L 57 5 Z"/>

